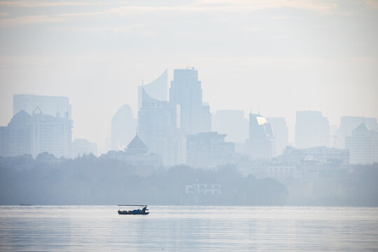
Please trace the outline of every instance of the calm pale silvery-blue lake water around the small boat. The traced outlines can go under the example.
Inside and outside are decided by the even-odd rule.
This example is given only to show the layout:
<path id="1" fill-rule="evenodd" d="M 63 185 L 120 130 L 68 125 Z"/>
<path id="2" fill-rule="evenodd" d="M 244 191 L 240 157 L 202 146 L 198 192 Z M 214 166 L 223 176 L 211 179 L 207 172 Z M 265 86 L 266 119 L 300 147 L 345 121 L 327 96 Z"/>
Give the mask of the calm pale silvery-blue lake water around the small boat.
<path id="1" fill-rule="evenodd" d="M 0 251 L 378 251 L 378 208 L 2 206 Z"/>

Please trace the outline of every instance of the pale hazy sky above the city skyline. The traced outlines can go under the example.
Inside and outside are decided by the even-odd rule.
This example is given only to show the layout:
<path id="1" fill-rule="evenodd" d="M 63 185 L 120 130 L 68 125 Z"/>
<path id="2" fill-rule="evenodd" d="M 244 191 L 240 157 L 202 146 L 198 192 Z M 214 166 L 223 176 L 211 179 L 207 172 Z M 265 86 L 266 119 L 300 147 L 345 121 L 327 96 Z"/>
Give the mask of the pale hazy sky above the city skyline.
<path id="1" fill-rule="evenodd" d="M 378 117 L 378 1 L 0 1 L 0 125 L 13 94 L 66 96 L 103 146 L 142 79 L 186 66 L 212 112 Z"/>

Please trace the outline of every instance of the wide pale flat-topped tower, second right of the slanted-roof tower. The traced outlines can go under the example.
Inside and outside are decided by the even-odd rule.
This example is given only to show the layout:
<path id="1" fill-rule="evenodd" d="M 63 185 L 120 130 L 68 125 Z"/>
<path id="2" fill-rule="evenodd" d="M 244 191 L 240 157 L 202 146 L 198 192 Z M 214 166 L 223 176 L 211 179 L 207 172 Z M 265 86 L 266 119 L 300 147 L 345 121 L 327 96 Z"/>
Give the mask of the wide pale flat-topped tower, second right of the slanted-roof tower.
<path id="1" fill-rule="evenodd" d="M 320 111 L 297 111 L 295 148 L 329 146 L 330 125 Z"/>

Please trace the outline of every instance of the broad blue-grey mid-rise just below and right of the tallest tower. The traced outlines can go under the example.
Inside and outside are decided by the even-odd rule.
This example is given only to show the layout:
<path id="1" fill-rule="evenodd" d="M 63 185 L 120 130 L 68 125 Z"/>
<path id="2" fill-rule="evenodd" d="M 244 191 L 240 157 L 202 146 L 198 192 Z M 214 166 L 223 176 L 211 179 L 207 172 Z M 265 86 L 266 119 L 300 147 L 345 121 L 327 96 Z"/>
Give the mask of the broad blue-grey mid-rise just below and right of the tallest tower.
<path id="1" fill-rule="evenodd" d="M 218 132 L 188 135 L 187 164 L 196 168 L 213 168 L 234 163 L 235 144 L 225 142 L 225 137 Z"/>

